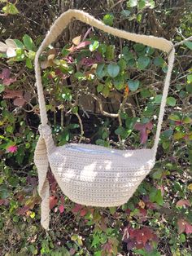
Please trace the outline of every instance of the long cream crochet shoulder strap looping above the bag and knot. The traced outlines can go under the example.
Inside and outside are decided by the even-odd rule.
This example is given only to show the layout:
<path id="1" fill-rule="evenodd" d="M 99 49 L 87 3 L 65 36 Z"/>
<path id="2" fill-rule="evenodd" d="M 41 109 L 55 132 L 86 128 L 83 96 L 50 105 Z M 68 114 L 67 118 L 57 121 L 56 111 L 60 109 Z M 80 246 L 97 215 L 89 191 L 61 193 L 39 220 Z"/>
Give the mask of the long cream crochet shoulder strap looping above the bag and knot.
<path id="1" fill-rule="evenodd" d="M 113 36 L 124 38 L 133 42 L 142 43 L 146 46 L 151 46 L 153 48 L 159 49 L 161 51 L 166 51 L 168 53 L 168 72 L 165 78 L 163 98 L 160 105 L 159 121 L 157 125 L 156 136 L 155 136 L 155 144 L 153 147 L 153 152 L 155 157 L 158 142 L 159 142 L 161 125 L 164 117 L 164 108 L 166 105 L 166 99 L 168 95 L 170 77 L 172 73 L 172 66 L 173 66 L 174 52 L 175 52 L 174 46 L 172 42 L 164 38 L 155 38 L 153 36 L 129 33 L 124 30 L 112 28 L 110 26 L 107 26 L 106 24 L 103 24 L 103 22 L 96 20 L 92 15 L 89 15 L 84 11 L 68 10 L 64 12 L 62 15 L 60 15 L 59 18 L 55 20 L 55 23 L 52 24 L 52 26 L 50 27 L 50 31 L 46 34 L 46 38 L 43 40 L 43 42 L 41 43 L 41 46 L 37 51 L 37 54 L 35 57 L 35 76 L 36 76 L 37 94 L 38 94 L 38 100 L 39 100 L 40 117 L 41 117 L 42 126 L 46 126 L 48 119 L 46 114 L 46 104 L 45 104 L 45 98 L 43 95 L 43 87 L 41 83 L 41 70 L 40 70 L 38 58 L 39 58 L 39 55 L 41 55 L 41 52 L 44 51 L 46 47 L 50 45 L 50 43 L 55 42 L 55 39 L 59 36 L 60 33 L 63 32 L 63 29 L 65 29 L 68 26 L 72 18 L 75 18 L 76 20 L 80 20 L 85 24 L 89 24 L 90 26 L 103 30 L 106 33 L 111 33 Z"/>

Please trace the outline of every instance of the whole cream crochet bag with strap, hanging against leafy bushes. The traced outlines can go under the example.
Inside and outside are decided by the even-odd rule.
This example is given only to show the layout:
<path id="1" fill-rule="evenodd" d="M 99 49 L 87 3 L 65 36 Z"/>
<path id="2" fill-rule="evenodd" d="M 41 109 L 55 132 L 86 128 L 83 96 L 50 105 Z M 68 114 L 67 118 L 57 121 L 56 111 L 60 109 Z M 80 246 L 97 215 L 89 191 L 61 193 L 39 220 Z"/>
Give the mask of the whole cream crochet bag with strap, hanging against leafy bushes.
<path id="1" fill-rule="evenodd" d="M 38 58 L 41 52 L 62 33 L 72 18 L 81 20 L 116 37 L 139 42 L 168 53 L 168 72 L 164 82 L 164 92 L 153 148 L 118 150 L 83 143 L 68 143 L 62 147 L 55 146 L 50 126 L 47 125 L 46 104 Z M 111 28 L 84 11 L 68 10 L 51 26 L 35 58 L 41 125 L 39 126 L 40 137 L 37 141 L 34 162 L 37 166 L 39 179 L 38 191 L 41 196 L 42 227 L 49 228 L 50 188 L 46 179 L 49 166 L 59 183 L 59 187 L 69 199 L 81 205 L 102 207 L 118 206 L 126 203 L 136 191 L 138 185 L 149 174 L 155 164 L 174 52 L 172 42 L 164 38 L 139 35 Z"/>

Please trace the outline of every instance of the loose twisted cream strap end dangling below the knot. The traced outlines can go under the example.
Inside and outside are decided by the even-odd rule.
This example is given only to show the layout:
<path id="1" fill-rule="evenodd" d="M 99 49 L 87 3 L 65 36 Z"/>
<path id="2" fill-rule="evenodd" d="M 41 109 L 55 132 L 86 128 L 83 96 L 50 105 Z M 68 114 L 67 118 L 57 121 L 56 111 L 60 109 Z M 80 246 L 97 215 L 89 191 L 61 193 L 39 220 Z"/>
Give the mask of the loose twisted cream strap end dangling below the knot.
<path id="1" fill-rule="evenodd" d="M 38 172 L 38 192 L 41 196 L 41 226 L 49 230 L 50 223 L 50 184 L 46 178 L 49 168 L 46 141 L 40 133 L 34 152 L 34 163 Z"/>

